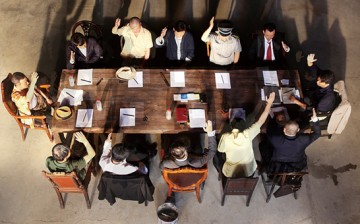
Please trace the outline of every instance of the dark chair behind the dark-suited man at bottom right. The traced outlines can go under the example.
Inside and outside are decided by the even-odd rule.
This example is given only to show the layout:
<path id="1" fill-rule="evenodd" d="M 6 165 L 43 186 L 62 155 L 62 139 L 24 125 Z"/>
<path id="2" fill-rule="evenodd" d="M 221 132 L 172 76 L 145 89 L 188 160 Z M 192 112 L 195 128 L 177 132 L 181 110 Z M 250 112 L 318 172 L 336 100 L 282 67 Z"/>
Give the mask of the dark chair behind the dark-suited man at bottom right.
<path id="1" fill-rule="evenodd" d="M 266 179 L 265 173 L 261 173 L 266 202 L 270 201 L 276 185 L 279 186 L 279 189 L 274 193 L 276 198 L 293 193 L 294 198 L 297 199 L 296 192 L 301 188 L 302 178 L 305 174 L 308 174 L 308 172 L 268 174 L 269 179 Z"/>

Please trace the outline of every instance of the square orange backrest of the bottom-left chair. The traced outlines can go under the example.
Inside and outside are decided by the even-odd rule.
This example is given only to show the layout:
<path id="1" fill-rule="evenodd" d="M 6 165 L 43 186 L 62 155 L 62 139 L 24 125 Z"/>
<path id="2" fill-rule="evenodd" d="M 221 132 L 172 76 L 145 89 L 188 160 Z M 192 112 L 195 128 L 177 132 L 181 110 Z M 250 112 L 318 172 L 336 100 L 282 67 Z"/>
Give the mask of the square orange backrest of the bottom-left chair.
<path id="1" fill-rule="evenodd" d="M 54 188 L 60 192 L 82 192 L 85 188 L 75 172 L 71 173 L 48 173 L 42 171 Z"/>

